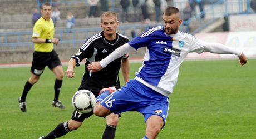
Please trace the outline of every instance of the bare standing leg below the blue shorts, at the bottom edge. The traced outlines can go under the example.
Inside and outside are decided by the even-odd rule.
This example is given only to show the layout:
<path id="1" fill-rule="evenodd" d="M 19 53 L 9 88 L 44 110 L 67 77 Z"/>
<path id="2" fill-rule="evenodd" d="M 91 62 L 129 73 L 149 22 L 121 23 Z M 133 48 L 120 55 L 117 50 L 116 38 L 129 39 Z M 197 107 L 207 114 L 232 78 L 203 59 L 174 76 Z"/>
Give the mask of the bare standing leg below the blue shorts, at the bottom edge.
<path id="1" fill-rule="evenodd" d="M 163 118 L 157 115 L 150 116 L 146 121 L 146 137 L 156 138 L 161 128 L 164 126 Z"/>

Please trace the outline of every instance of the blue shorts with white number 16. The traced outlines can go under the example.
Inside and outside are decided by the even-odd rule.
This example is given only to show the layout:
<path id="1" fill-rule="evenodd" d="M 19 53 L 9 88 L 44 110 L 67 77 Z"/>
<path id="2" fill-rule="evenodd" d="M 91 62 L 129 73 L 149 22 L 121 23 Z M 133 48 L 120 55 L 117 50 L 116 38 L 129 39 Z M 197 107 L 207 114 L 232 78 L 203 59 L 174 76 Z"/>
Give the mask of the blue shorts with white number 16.
<path id="1" fill-rule="evenodd" d="M 145 122 L 152 115 L 159 115 L 166 121 L 169 98 L 152 90 L 137 80 L 130 80 L 125 87 L 107 96 L 100 103 L 115 114 L 125 111 L 138 111 Z"/>

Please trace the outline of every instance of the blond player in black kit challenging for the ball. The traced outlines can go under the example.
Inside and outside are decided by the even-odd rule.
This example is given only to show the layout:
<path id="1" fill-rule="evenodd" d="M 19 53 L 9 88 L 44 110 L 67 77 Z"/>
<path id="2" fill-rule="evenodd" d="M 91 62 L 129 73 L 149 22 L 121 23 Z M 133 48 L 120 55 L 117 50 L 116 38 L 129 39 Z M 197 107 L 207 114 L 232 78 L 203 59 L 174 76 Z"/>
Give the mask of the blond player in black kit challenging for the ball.
<path id="1" fill-rule="evenodd" d="M 101 15 L 101 27 L 102 32 L 87 39 L 82 47 L 74 54 L 68 62 L 68 68 L 66 71 L 67 77 L 74 77 L 75 66 L 80 66 L 80 62 L 86 59 L 85 74 L 78 90 L 86 89 L 93 92 L 97 97 L 102 88 L 115 86 L 120 88 L 119 82 L 119 69 L 122 68 L 122 75 L 124 76 L 125 83 L 129 80 L 129 54 L 123 54 L 115 61 L 111 62 L 101 72 L 91 73 L 88 72 L 87 66 L 91 62 L 101 61 L 107 57 L 116 48 L 122 44 L 129 42 L 129 39 L 122 34 L 116 32 L 119 22 L 114 12 L 105 12 Z M 89 113 L 80 113 L 76 110 L 73 111 L 71 120 L 60 123 L 54 130 L 52 130 L 47 136 L 42 138 L 56 138 L 66 135 L 66 133 L 77 130 L 85 120 L 85 118 L 93 115 L 93 111 Z M 116 126 L 118 123 L 118 115 L 111 115 L 106 117 L 106 129 L 102 138 L 114 138 L 116 132 Z"/>

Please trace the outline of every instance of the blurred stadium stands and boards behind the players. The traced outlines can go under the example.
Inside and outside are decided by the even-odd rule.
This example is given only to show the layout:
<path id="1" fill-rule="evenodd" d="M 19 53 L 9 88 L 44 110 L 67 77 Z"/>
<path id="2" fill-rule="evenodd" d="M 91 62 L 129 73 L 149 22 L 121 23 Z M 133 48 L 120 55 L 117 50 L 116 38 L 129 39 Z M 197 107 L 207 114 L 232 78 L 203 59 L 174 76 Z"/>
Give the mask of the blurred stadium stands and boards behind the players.
<path id="1" fill-rule="evenodd" d="M 101 31 L 100 15 L 114 11 L 119 17 L 117 32 L 130 40 L 145 29 L 161 26 L 166 7 L 180 9 L 181 32 L 193 34 L 207 42 L 218 42 L 241 49 L 248 57 L 256 56 L 256 0 L 0 0 L 0 64 L 32 61 L 33 22 L 40 15 L 43 2 L 52 4 L 55 46 L 61 61 L 66 62 L 81 45 Z M 67 28 L 71 13 L 75 23 Z M 145 49 L 130 54 L 141 59 Z M 188 59 L 230 58 L 229 55 L 190 53 Z M 232 58 L 232 57 L 231 57 Z"/>

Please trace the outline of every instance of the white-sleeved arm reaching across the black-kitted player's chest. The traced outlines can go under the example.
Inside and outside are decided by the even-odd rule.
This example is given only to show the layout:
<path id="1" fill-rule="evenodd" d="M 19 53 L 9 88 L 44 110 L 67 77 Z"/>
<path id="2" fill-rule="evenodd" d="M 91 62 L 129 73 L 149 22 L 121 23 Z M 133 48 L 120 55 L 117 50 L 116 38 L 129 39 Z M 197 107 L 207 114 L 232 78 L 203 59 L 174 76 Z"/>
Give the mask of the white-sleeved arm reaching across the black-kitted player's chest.
<path id="1" fill-rule="evenodd" d="M 102 59 L 100 62 L 92 62 L 88 65 L 88 71 L 96 72 L 100 71 L 102 68 L 106 67 L 107 64 L 114 61 L 115 59 L 124 56 L 124 54 L 135 51 L 134 47 L 131 47 L 128 43 L 117 48 L 114 52 L 109 54 L 106 58 Z"/>

